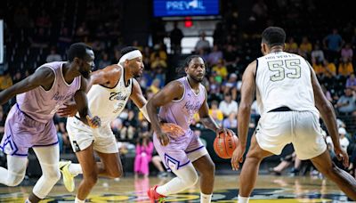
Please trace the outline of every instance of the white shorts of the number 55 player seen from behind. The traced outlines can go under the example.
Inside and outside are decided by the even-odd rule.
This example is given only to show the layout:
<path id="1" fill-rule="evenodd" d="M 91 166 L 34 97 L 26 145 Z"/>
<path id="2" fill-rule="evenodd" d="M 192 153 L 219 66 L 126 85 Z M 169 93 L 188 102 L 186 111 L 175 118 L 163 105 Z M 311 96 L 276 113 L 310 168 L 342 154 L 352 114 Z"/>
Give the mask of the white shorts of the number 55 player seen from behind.
<path id="1" fill-rule="evenodd" d="M 299 159 L 310 159 L 327 150 L 321 134 L 319 117 L 310 111 L 268 112 L 255 130 L 258 145 L 279 155 L 292 143 Z"/>

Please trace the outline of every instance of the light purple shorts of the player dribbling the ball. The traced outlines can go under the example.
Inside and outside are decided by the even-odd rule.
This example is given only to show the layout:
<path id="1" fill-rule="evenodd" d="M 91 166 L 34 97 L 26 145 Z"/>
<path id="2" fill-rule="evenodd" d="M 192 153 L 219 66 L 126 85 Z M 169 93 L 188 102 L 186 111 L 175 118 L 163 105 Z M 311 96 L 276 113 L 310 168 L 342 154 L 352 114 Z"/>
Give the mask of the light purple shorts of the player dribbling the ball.
<path id="1" fill-rule="evenodd" d="M 178 170 L 208 154 L 206 147 L 192 131 L 175 140 L 171 138 L 166 146 L 162 146 L 157 135 L 153 134 L 153 144 L 168 170 L 173 167 Z"/>

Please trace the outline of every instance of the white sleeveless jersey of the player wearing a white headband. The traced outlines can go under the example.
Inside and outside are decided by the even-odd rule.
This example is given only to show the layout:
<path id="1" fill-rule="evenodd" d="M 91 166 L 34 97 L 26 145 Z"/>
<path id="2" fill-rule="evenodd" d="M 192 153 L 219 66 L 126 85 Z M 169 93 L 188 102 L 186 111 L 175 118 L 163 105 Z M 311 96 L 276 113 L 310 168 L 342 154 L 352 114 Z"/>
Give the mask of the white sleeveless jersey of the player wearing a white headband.
<path id="1" fill-rule="evenodd" d="M 125 86 L 125 69 L 118 65 L 121 77 L 115 87 L 109 88 L 102 85 L 93 85 L 87 93 L 88 107 L 93 116 L 101 118 L 101 126 L 109 125 L 125 109 L 133 89 L 133 79 Z"/>

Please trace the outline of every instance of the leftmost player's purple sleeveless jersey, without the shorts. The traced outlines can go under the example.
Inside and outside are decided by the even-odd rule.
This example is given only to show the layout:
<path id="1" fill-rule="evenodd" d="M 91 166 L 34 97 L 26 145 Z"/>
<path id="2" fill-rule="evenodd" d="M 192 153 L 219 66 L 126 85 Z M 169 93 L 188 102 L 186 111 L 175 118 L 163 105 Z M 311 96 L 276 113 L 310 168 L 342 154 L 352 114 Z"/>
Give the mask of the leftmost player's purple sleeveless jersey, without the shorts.
<path id="1" fill-rule="evenodd" d="M 62 66 L 65 61 L 45 63 L 44 67 L 53 69 L 54 82 L 50 90 L 38 86 L 26 93 L 17 95 L 16 100 L 22 112 L 40 123 L 47 123 L 64 102 L 69 101 L 80 88 L 80 77 L 75 77 L 71 84 L 64 80 Z"/>

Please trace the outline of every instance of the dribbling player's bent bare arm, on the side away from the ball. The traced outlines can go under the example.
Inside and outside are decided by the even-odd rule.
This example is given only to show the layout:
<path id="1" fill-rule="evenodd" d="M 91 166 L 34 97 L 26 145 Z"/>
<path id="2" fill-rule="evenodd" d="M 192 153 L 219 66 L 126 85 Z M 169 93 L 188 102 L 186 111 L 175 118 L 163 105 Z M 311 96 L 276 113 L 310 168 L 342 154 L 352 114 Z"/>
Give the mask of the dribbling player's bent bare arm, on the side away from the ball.
<path id="1" fill-rule="evenodd" d="M 173 81 L 166 85 L 161 91 L 156 93 L 147 103 L 147 113 L 150 117 L 150 123 L 153 130 L 158 135 L 158 139 L 163 146 L 169 143 L 168 136 L 162 132 L 157 109 L 174 100 L 182 98 L 184 86 L 181 82 Z"/>

